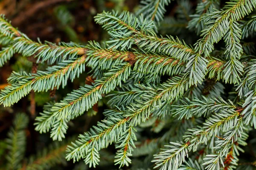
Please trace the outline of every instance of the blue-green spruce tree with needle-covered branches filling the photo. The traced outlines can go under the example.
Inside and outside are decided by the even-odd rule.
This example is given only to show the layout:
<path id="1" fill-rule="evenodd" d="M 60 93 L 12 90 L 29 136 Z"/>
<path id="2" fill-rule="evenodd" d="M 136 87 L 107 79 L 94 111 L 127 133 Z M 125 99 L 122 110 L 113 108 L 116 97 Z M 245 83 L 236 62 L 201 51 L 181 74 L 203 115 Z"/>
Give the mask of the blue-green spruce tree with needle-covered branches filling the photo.
<path id="1" fill-rule="evenodd" d="M 236 169 L 248 134 L 256 128 L 255 45 L 250 39 L 255 38 L 256 0 L 231 0 L 224 6 L 219 0 L 202 0 L 192 15 L 185 13 L 192 11 L 189 1 L 179 0 L 177 18 L 169 21 L 173 29 L 175 23 L 182 23 L 186 31 L 200 34 L 194 45 L 158 33 L 167 22 L 169 3 L 173 2 L 143 0 L 136 14 L 97 14 L 95 22 L 110 39 L 87 45 L 32 41 L 1 16 L 0 43 L 5 48 L 0 66 L 18 53 L 48 68 L 13 72 L 0 103 L 10 106 L 30 91 L 64 88 L 88 67 L 95 79 L 90 85 L 47 103 L 35 119 L 35 130 L 50 131 L 53 140 L 61 141 L 68 122 L 102 98 L 108 100 L 105 119 L 67 146 L 67 160 L 84 159 L 89 167 L 96 167 L 100 150 L 113 143 L 117 150 L 113 162 L 119 168 L 130 164 L 136 168 L 132 158 L 149 155 L 148 167 L 152 161 L 160 170 Z M 224 94 L 225 87 L 232 87 L 229 95 Z M 147 127 L 160 135 L 138 146 L 143 139 L 140 132 Z M 22 128 L 17 122 L 15 129 Z M 15 146 L 10 149 L 10 154 L 15 152 Z M 8 166 L 19 163 L 14 156 L 7 157 Z"/>

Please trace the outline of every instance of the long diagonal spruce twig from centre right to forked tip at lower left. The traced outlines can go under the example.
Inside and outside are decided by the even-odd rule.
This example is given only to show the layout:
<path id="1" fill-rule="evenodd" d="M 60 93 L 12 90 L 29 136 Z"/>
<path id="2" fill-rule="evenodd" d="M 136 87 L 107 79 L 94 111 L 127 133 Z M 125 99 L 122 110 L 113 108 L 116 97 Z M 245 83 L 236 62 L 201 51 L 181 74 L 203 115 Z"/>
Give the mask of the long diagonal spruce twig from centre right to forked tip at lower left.
<path id="1" fill-rule="evenodd" d="M 182 77 L 175 77 L 172 81 L 183 81 L 181 79 Z M 171 81 L 170 81 L 171 82 Z M 136 126 L 137 124 L 140 124 L 140 122 L 145 122 L 145 120 L 148 118 L 151 111 L 154 110 L 154 108 L 159 105 L 160 99 L 169 98 L 170 94 L 171 97 L 174 99 L 178 97 L 176 94 L 171 93 L 171 91 L 176 91 L 177 87 L 176 85 L 179 85 L 179 83 L 170 83 L 169 89 L 165 90 L 160 88 L 159 90 L 162 90 L 160 94 L 157 94 L 154 91 L 154 88 L 146 87 L 146 86 L 139 86 L 140 88 L 144 89 L 145 92 L 150 92 L 151 94 L 153 92 L 153 95 L 148 96 L 149 94 L 145 93 L 143 98 L 143 107 L 142 105 L 131 105 L 130 108 L 124 111 L 124 115 L 126 118 L 115 118 L 113 116 L 108 117 L 105 124 L 98 124 L 98 127 L 95 127 L 95 131 L 92 131 L 90 133 L 85 133 L 85 135 L 80 135 L 80 139 L 76 141 L 76 144 L 73 144 L 73 146 L 68 148 L 69 154 L 67 155 L 67 159 L 73 159 L 74 161 L 78 161 L 81 158 L 84 158 L 84 153 L 90 153 L 87 155 L 86 159 L 88 160 L 87 163 L 89 163 L 89 166 L 93 165 L 96 166 L 97 162 L 99 161 L 99 154 L 97 148 L 104 148 L 107 146 L 108 143 L 111 143 L 113 141 L 116 141 L 119 139 L 119 134 L 122 134 L 122 129 L 125 127 L 122 127 L 126 125 L 126 123 L 129 123 L 129 127 Z M 181 88 L 181 87 L 180 87 Z M 177 91 L 178 92 L 178 91 Z M 172 99 L 172 98 L 171 98 Z M 141 103 L 141 102 L 140 102 Z M 136 108 L 139 108 L 136 110 Z M 113 122 L 115 120 L 115 122 Z M 119 129 L 122 128 L 122 129 Z M 103 139 L 102 136 L 105 136 Z M 100 141 L 98 141 L 100 140 Z M 103 141 L 102 141 L 103 140 Z M 90 144 L 92 143 L 92 144 Z M 89 145 L 90 144 L 90 145 Z M 90 149 L 89 149 L 90 148 Z M 93 159 L 95 158 L 95 159 Z"/>

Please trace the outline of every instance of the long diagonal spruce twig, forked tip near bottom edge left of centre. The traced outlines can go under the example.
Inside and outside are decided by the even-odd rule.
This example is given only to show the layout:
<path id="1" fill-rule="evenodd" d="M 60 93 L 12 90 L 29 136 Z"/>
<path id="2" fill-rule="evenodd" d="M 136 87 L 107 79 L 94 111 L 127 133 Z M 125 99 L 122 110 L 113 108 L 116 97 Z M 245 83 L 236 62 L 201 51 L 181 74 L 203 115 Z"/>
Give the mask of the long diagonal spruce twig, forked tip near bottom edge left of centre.
<path id="1" fill-rule="evenodd" d="M 126 118 L 119 119 L 117 122 L 115 122 L 115 125 L 113 125 L 112 121 L 109 124 L 113 126 L 103 126 L 99 124 L 97 128 L 95 127 L 96 129 L 101 129 L 98 133 L 95 133 L 93 131 L 91 134 L 86 134 L 87 137 L 80 136 L 81 139 L 79 139 L 76 144 L 73 144 L 73 147 L 70 147 L 68 149 L 69 154 L 67 155 L 67 159 L 73 159 L 74 161 L 78 161 L 79 159 L 83 158 L 84 152 L 85 154 L 89 152 L 90 154 L 88 154 L 86 157 L 86 160 L 88 160 L 87 163 L 89 163 L 89 166 L 95 166 L 99 161 L 99 154 L 97 153 L 98 149 L 96 148 L 106 147 L 106 143 L 105 141 L 96 142 L 96 144 L 93 143 L 93 146 L 91 146 L 89 150 L 87 148 L 87 145 L 90 144 L 89 139 L 95 141 L 96 139 L 98 139 L 99 136 L 106 136 L 107 139 L 105 140 L 108 140 L 108 142 L 111 143 L 116 139 L 119 139 L 119 137 L 116 137 L 119 135 L 113 134 L 113 130 L 116 130 L 116 128 L 118 128 L 119 126 L 130 122 L 129 127 L 133 127 L 134 125 L 136 126 L 137 124 L 140 124 L 140 122 L 145 122 L 145 120 L 148 119 L 150 112 L 153 111 L 155 108 L 159 107 L 159 105 L 161 105 L 161 99 L 175 100 L 181 95 L 179 93 L 183 93 L 184 83 L 186 83 L 187 80 L 184 80 L 182 78 L 183 77 L 173 77 L 171 80 L 169 80 L 169 82 L 166 82 L 166 84 L 162 85 L 159 89 L 157 89 L 159 93 L 157 93 L 157 90 L 152 87 L 137 85 L 137 87 L 143 89 L 145 93 L 141 96 L 143 100 L 137 101 L 138 103 L 141 103 L 141 105 L 132 104 L 131 107 L 128 107 L 128 109 L 124 111 L 124 115 Z M 109 117 L 108 120 L 110 121 L 111 119 L 113 118 Z M 102 129 L 102 127 L 105 128 Z M 110 134 L 106 134 L 107 132 L 109 132 Z M 121 131 L 118 134 L 122 134 Z M 100 147 L 99 145 L 101 145 L 102 143 L 103 145 L 102 147 Z"/>

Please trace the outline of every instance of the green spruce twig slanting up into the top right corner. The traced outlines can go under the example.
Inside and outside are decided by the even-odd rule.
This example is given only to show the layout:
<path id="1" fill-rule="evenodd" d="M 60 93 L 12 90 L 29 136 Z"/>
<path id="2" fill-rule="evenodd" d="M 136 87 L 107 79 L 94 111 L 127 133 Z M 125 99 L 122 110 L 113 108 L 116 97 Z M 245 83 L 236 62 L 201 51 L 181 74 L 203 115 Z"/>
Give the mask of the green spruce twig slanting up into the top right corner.
<path id="1" fill-rule="evenodd" d="M 229 21 L 237 21 L 249 14 L 253 8 L 256 8 L 256 2 L 250 0 L 234 0 L 228 2 L 222 11 L 212 11 L 204 14 L 203 20 L 206 26 L 202 31 L 202 39 L 196 43 L 196 50 L 200 54 L 209 56 L 214 49 L 213 43 L 221 40 L 229 29 Z"/>

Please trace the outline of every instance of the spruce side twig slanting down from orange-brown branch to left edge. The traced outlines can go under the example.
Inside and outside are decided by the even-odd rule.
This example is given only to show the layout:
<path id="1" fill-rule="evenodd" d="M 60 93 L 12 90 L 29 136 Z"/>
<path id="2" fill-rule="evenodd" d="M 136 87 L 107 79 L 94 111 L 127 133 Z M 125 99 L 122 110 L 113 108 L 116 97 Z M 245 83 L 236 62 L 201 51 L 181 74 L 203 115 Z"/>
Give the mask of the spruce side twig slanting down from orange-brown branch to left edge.
<path id="1" fill-rule="evenodd" d="M 0 94 L 0 103 L 4 106 L 10 106 L 18 102 L 23 96 L 29 94 L 31 90 L 34 91 L 48 91 L 53 88 L 59 88 L 62 84 L 62 88 L 67 85 L 68 78 L 73 79 L 84 71 L 85 69 L 85 56 L 64 60 L 58 63 L 58 65 L 47 68 L 47 71 L 37 71 L 36 74 L 32 74 L 27 79 L 17 82 L 13 85 L 7 86 Z M 76 71 L 76 72 L 75 72 Z M 10 79 L 15 78 L 17 74 L 12 74 Z M 26 75 L 25 75 L 26 76 Z"/>

